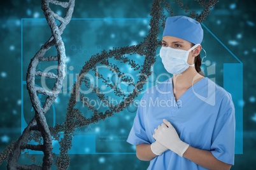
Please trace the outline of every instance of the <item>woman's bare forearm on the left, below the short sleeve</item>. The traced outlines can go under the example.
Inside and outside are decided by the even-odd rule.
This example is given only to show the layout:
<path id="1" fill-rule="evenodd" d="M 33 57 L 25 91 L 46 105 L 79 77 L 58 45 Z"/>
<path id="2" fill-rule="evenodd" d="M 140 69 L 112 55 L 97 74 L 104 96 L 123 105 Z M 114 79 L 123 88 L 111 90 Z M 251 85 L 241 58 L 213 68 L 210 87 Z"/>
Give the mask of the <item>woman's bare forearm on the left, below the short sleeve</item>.
<path id="1" fill-rule="evenodd" d="M 157 155 L 153 154 L 149 144 L 143 143 L 136 145 L 136 156 L 139 160 L 150 161 Z"/>

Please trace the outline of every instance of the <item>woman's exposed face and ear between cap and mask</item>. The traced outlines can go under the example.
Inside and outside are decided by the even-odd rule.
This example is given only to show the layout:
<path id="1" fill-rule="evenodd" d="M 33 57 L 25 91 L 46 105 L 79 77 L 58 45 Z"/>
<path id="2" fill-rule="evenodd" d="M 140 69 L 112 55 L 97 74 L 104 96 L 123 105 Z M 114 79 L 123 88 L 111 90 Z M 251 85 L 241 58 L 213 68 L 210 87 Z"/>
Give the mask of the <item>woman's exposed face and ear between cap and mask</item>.
<path id="1" fill-rule="evenodd" d="M 184 39 L 180 39 L 177 37 L 172 37 L 172 36 L 164 36 L 162 37 L 162 46 L 163 47 L 171 47 L 171 48 L 176 48 L 176 49 L 183 49 L 188 51 L 188 49 L 192 48 L 191 42 L 188 42 Z M 199 55 L 201 51 L 201 45 L 197 46 L 197 48 L 193 49 L 190 51 L 188 55 L 188 60 L 187 63 L 192 65 L 195 61 L 195 57 Z"/>

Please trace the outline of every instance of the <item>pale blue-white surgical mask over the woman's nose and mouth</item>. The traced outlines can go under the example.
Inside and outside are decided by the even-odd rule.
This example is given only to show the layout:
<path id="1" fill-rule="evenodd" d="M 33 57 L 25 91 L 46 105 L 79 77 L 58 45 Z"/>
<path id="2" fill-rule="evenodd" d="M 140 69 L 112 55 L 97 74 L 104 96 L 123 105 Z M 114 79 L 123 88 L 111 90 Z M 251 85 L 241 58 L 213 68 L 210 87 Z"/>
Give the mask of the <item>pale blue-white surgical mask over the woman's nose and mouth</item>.
<path id="1" fill-rule="evenodd" d="M 175 49 L 171 47 L 162 47 L 160 49 L 160 57 L 162 58 L 162 63 L 167 72 L 171 74 L 181 74 L 188 69 L 188 67 L 194 67 L 195 64 L 189 65 L 187 63 L 188 54 L 193 49 L 197 48 L 200 44 L 196 44 L 188 51 L 183 49 Z"/>

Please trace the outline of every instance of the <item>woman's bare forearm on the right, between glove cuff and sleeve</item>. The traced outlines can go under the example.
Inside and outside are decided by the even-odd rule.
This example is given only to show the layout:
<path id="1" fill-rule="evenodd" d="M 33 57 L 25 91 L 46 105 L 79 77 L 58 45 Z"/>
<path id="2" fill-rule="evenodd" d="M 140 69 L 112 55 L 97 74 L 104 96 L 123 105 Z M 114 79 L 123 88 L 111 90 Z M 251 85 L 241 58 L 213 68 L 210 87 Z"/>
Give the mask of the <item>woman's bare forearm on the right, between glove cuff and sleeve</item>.
<path id="1" fill-rule="evenodd" d="M 216 159 L 208 150 L 188 147 L 186 152 L 184 152 L 183 157 L 195 162 L 199 166 L 206 167 L 207 169 L 231 169 L 230 164 L 226 164 Z"/>

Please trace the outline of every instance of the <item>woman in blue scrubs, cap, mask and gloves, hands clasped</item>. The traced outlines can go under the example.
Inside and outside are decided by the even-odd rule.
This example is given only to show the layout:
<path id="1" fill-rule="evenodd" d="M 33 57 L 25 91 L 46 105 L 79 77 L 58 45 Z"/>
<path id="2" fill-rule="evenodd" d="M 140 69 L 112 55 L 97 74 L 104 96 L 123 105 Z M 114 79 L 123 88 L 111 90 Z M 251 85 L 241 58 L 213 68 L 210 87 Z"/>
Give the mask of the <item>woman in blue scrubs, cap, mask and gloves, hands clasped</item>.
<path id="1" fill-rule="evenodd" d="M 201 73 L 201 24 L 166 20 L 160 57 L 171 79 L 147 89 L 127 142 L 148 169 L 230 169 L 235 115 L 231 95 Z"/>

